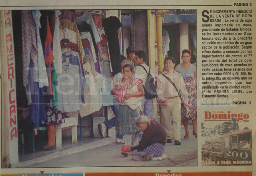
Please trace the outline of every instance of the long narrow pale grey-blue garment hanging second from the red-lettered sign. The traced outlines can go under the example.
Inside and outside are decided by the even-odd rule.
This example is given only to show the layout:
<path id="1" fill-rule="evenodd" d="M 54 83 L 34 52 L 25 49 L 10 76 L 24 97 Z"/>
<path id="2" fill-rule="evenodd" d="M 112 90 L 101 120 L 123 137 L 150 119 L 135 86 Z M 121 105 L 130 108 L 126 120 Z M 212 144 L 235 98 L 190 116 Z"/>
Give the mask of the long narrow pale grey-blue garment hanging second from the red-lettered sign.
<path id="1" fill-rule="evenodd" d="M 48 77 L 46 73 L 45 67 L 45 59 L 43 55 L 43 47 L 39 34 L 39 29 L 41 28 L 40 17 L 41 13 L 39 10 L 32 10 L 32 15 L 36 24 L 36 33 L 37 33 L 37 61 L 38 61 L 38 79 L 39 79 L 39 87 L 42 88 L 44 86 L 48 86 Z"/>

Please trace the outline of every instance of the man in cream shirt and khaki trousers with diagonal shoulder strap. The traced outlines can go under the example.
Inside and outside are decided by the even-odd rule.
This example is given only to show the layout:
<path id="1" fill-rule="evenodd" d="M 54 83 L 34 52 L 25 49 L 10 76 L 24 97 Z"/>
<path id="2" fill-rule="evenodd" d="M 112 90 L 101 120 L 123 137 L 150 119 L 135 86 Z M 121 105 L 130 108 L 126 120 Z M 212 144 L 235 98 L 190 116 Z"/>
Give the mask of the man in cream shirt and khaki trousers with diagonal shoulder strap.
<path id="1" fill-rule="evenodd" d="M 157 95 L 163 115 L 163 127 L 167 134 L 167 143 L 172 143 L 174 139 L 175 145 L 181 145 L 181 99 L 177 90 L 183 98 L 185 107 L 188 106 L 188 93 L 183 77 L 174 70 L 175 59 L 167 57 L 164 63 L 166 71 L 157 77 Z M 173 81 L 177 90 L 164 75 Z"/>

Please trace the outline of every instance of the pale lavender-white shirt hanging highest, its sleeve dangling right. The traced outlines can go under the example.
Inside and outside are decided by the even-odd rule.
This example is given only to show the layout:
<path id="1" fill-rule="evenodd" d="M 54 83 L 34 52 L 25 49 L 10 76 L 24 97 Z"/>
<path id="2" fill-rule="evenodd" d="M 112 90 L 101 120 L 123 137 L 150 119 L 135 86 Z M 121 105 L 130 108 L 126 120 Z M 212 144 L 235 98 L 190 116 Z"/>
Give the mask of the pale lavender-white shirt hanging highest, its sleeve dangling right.
<path id="1" fill-rule="evenodd" d="M 81 16 L 79 17 L 76 17 L 76 20 L 77 20 L 77 25 L 80 25 L 82 24 L 84 21 L 89 24 L 91 26 L 91 29 L 93 31 L 93 35 L 94 35 L 94 38 L 95 38 L 95 42 L 98 43 L 100 42 L 100 37 L 99 37 L 99 34 L 98 34 L 98 31 L 96 29 L 96 26 L 93 22 L 93 19 L 92 19 L 92 16 L 91 16 L 91 13 L 90 12 L 85 12 L 84 14 L 82 14 Z"/>

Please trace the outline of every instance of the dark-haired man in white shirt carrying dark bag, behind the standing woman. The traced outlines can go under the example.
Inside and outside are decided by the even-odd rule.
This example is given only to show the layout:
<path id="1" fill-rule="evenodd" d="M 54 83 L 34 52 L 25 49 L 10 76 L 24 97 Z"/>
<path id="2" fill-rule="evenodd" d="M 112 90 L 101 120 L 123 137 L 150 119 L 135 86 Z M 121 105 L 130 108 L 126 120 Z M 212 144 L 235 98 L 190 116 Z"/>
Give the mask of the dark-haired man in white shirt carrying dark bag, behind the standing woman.
<path id="1" fill-rule="evenodd" d="M 135 78 L 138 78 L 142 81 L 142 86 L 145 86 L 145 82 L 146 82 L 146 78 L 148 76 L 149 70 L 150 70 L 150 74 L 152 75 L 152 70 L 145 64 L 147 61 L 148 61 L 148 56 L 144 51 L 138 51 L 135 53 L 134 62 L 137 65 Z M 146 69 L 147 73 L 143 67 Z M 142 111 L 144 115 L 149 116 L 151 119 L 153 119 L 153 115 L 154 115 L 153 99 L 152 98 L 148 99 L 145 96 L 143 96 L 141 106 L 142 106 Z"/>

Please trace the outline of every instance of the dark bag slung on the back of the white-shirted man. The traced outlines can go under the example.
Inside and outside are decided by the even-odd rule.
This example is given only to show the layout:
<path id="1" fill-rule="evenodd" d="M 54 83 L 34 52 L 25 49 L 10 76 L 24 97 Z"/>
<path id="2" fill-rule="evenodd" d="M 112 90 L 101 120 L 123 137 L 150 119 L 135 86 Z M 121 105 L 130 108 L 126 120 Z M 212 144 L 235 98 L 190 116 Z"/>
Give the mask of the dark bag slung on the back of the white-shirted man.
<path id="1" fill-rule="evenodd" d="M 140 67 L 142 67 L 145 71 L 145 67 L 143 67 L 142 65 L 140 65 Z M 157 91 L 156 91 L 156 86 L 154 85 L 154 78 L 153 76 L 150 74 L 150 69 L 149 72 L 147 72 L 147 77 L 146 77 L 146 82 L 145 85 L 143 86 L 144 92 L 145 92 L 145 97 L 148 99 L 153 99 L 156 97 L 157 95 Z"/>

